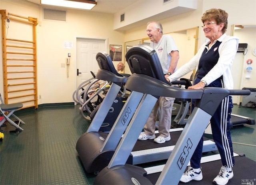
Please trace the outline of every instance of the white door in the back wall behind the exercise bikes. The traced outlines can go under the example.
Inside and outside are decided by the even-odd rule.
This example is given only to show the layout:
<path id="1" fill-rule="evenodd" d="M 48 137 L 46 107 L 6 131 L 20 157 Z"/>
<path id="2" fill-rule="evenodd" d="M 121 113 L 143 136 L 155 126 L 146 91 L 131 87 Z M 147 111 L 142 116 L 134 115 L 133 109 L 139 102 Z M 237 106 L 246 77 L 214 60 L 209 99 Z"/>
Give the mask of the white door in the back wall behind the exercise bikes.
<path id="1" fill-rule="evenodd" d="M 76 88 L 92 78 L 91 71 L 96 74 L 98 71 L 98 63 L 96 54 L 100 51 L 106 51 L 104 39 L 77 38 L 76 39 L 76 68 L 78 76 L 76 76 Z"/>

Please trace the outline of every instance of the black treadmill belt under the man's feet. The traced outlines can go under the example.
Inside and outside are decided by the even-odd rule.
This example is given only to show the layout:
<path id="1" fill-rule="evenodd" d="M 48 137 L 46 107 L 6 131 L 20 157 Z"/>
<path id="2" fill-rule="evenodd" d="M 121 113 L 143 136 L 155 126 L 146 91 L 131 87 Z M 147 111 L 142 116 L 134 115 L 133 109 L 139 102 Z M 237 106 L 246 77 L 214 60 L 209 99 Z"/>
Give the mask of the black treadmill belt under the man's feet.
<path id="1" fill-rule="evenodd" d="M 182 131 L 174 131 L 170 132 L 171 140 L 166 141 L 165 143 L 156 143 L 154 142 L 154 139 L 148 139 L 146 141 L 140 141 L 138 140 L 132 149 L 132 151 L 139 151 L 139 150 L 146 150 L 146 149 L 152 149 L 152 148 L 160 148 L 160 147 L 167 147 L 167 146 L 173 146 L 176 145 L 176 142 L 178 141 L 180 134 Z M 159 133 L 156 134 L 156 137 L 159 136 Z M 204 137 L 204 141 L 209 140 L 206 137 Z"/>

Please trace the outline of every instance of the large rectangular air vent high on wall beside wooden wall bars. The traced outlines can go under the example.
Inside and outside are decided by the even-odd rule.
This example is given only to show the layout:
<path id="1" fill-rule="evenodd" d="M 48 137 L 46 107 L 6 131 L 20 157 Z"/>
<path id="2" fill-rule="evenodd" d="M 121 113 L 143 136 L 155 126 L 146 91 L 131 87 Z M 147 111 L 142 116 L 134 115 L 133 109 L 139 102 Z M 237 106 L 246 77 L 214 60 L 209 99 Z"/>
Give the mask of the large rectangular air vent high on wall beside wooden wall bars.
<path id="1" fill-rule="evenodd" d="M 43 18 L 44 20 L 56 20 L 56 21 L 66 22 L 67 12 L 65 10 L 54 10 L 54 9 L 44 8 Z"/>

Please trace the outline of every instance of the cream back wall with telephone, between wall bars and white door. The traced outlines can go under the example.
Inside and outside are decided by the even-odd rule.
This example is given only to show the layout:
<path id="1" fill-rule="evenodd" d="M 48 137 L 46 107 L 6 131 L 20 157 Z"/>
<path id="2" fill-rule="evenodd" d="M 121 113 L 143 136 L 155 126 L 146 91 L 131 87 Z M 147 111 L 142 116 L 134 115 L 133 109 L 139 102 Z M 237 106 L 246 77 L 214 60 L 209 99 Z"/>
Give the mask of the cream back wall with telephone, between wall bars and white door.
<path id="1" fill-rule="evenodd" d="M 38 99 L 38 104 L 73 102 L 76 37 L 108 38 L 108 47 L 109 44 L 124 43 L 124 33 L 113 30 L 112 14 L 68 9 L 67 22 L 58 22 L 42 20 L 42 7 L 23 0 L 0 0 L 0 8 L 12 14 L 35 17 L 40 21 L 41 26 L 37 26 L 38 95 L 41 95 L 42 99 Z M 18 29 L 16 28 L 16 34 L 19 34 Z M 65 49 L 65 42 L 73 43 L 74 47 Z M 106 52 L 109 52 L 109 48 Z M 69 78 L 66 75 L 66 67 L 61 68 L 61 63 L 65 63 L 68 53 L 71 53 Z M 0 73 L 2 74 L 2 65 Z M 0 87 L 3 94 L 2 78 Z"/>

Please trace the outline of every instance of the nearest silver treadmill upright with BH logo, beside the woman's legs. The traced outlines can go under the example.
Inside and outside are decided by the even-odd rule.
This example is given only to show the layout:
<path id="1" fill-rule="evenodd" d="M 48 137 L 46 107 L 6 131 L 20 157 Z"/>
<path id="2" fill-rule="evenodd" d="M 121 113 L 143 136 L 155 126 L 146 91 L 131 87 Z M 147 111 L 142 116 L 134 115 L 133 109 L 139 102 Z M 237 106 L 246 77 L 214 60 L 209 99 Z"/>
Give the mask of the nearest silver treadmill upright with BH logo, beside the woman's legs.
<path id="1" fill-rule="evenodd" d="M 194 108 L 156 184 L 179 183 L 211 117 L 202 109 Z"/>

